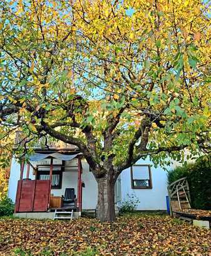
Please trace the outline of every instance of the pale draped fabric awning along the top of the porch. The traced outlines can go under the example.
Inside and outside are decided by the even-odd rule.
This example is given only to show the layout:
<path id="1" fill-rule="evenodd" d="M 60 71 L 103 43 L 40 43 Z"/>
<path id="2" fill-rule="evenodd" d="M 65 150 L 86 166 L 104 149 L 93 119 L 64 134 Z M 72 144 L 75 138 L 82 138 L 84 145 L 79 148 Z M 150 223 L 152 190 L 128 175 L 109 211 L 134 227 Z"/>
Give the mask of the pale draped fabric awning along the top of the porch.
<path id="1" fill-rule="evenodd" d="M 34 153 L 33 155 L 31 155 L 31 157 L 29 157 L 29 160 L 30 161 L 40 161 L 40 160 L 46 159 L 48 157 L 52 157 L 54 159 L 69 161 L 69 160 L 75 159 L 75 157 L 77 157 L 77 155 L 82 155 L 82 153 L 77 153 L 75 155 L 64 155 L 62 153 Z"/>

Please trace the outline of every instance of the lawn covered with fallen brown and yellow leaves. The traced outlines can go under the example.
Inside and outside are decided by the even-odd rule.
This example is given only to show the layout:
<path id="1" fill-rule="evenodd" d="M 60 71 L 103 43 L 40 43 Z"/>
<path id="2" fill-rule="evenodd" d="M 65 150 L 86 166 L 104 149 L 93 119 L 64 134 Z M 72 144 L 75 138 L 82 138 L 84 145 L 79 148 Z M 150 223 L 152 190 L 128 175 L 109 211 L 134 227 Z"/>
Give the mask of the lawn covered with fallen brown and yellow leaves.
<path id="1" fill-rule="evenodd" d="M 0 220 L 0 255 L 211 255 L 211 231 L 169 216 L 123 216 L 116 223 Z"/>

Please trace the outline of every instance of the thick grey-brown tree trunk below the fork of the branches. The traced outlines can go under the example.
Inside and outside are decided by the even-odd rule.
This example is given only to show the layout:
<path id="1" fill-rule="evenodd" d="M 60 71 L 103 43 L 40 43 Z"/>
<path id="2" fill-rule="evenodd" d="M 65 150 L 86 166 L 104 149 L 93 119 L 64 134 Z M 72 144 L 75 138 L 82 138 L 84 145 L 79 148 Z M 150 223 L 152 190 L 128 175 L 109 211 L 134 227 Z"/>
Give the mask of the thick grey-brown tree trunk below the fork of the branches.
<path id="1" fill-rule="evenodd" d="M 115 221 L 115 181 L 108 177 L 97 179 L 98 182 L 98 211 L 100 221 Z"/>

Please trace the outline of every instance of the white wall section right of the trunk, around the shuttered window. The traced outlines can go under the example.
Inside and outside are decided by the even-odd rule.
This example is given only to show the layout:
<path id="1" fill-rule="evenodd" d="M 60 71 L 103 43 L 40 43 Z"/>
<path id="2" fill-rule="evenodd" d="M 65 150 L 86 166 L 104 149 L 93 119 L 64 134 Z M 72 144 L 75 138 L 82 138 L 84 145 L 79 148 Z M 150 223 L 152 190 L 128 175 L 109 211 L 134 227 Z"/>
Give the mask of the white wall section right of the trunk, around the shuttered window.
<path id="1" fill-rule="evenodd" d="M 130 168 L 121 173 L 121 199 L 124 201 L 127 194 L 135 194 L 139 199 L 138 210 L 165 210 L 167 209 L 167 172 L 161 167 L 153 167 L 150 160 L 138 160 L 136 164 L 150 164 L 152 171 L 152 189 L 131 189 Z"/>

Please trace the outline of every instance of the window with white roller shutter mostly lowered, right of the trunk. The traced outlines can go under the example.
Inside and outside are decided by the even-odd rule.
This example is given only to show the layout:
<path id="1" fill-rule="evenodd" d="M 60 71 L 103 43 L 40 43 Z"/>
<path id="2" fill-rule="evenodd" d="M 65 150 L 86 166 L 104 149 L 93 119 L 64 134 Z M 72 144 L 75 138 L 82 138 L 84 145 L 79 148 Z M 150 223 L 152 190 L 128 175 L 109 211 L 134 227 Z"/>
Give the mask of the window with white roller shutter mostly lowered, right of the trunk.
<path id="1" fill-rule="evenodd" d="M 150 165 L 131 166 L 131 188 L 152 189 L 152 175 Z"/>

